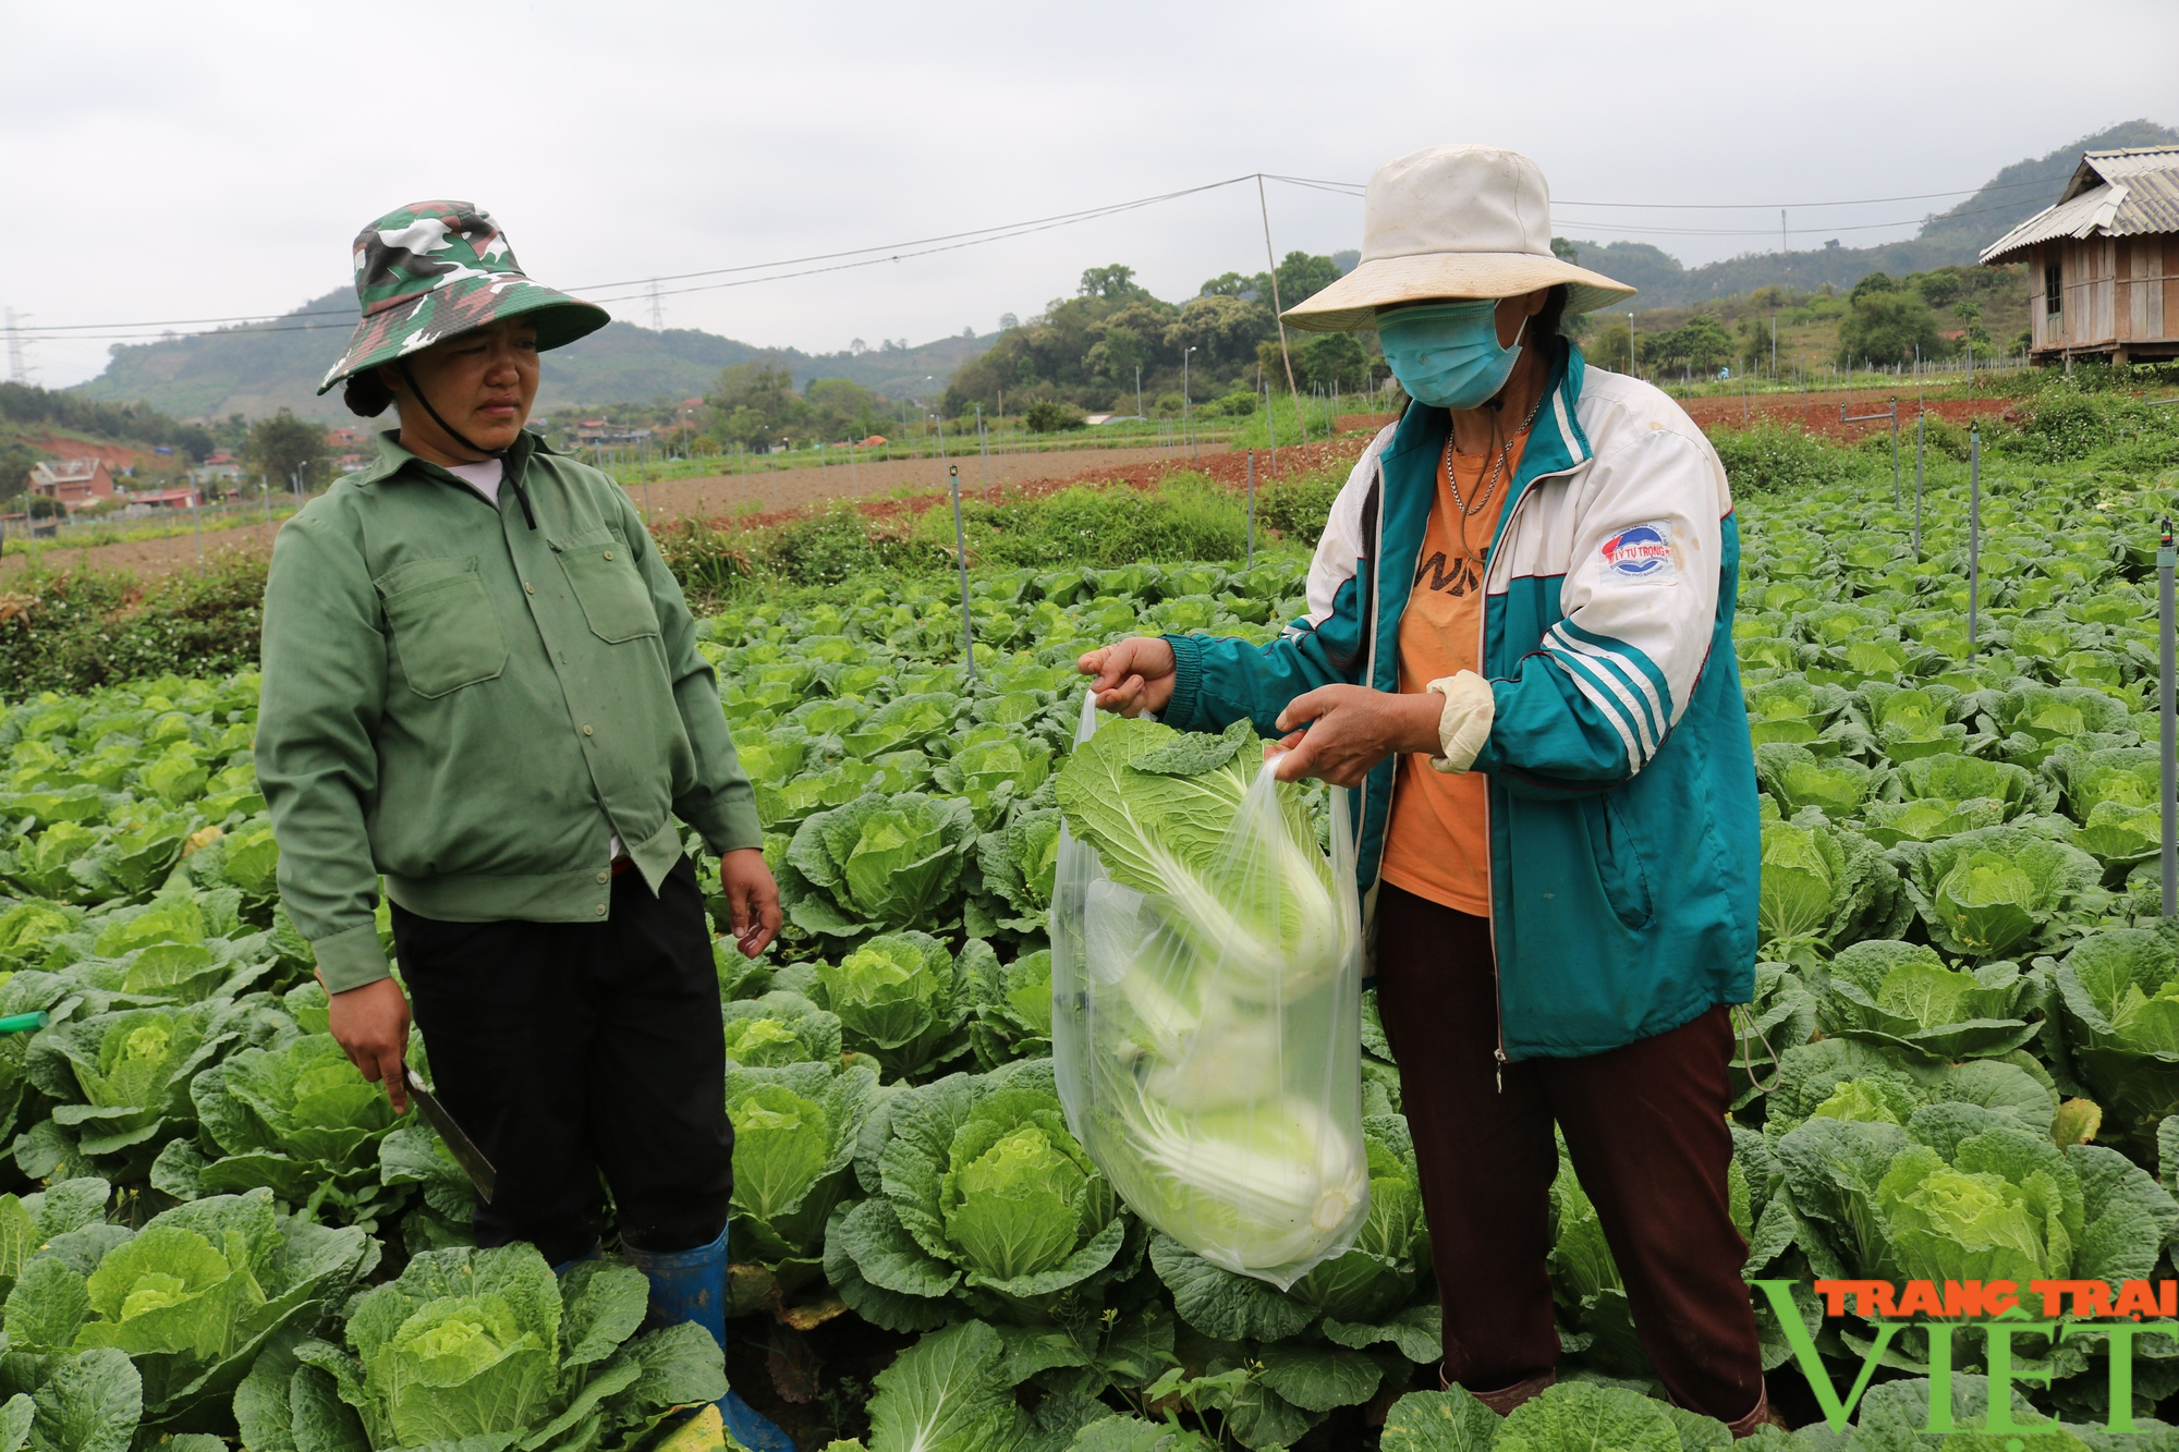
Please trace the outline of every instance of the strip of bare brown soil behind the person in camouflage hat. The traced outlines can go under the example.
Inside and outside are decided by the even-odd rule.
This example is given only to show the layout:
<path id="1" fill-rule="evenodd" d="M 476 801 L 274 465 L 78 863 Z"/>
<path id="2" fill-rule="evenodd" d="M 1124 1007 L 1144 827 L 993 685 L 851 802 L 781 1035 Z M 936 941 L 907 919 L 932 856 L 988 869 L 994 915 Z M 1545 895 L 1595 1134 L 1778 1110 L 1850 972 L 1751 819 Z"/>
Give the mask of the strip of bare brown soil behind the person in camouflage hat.
<path id="1" fill-rule="evenodd" d="M 1279 451 L 1281 456 L 1288 449 Z M 991 460 L 991 488 L 1002 484 L 1044 484 L 1076 477 L 1118 477 L 1155 467 L 1157 473 L 1190 462 L 1188 449 L 1098 449 L 1094 453 L 1002 453 Z M 1220 453 L 1205 449 L 1203 467 L 1227 473 Z M 963 495 L 983 491 L 983 458 L 970 453 L 957 460 L 961 469 Z M 702 480 L 669 480 L 662 484 L 636 484 L 628 491 L 636 508 L 649 508 L 652 519 L 667 521 L 686 515 L 717 517 L 737 508 L 756 506 L 765 515 L 798 510 L 824 499 L 867 499 L 889 495 L 898 488 L 944 491 L 946 464 L 939 460 L 887 460 L 880 464 L 854 464 L 854 469 L 780 469 L 752 471 L 741 475 L 710 475 Z M 205 534 L 205 562 L 222 558 L 264 558 L 272 547 L 272 525 L 238 525 Z M 0 558 L 0 582 L 22 573 L 33 556 L 9 554 Z M 196 536 L 176 534 L 172 539 L 131 541 L 122 545 L 96 545 L 83 549 L 46 547 L 39 558 L 48 569 L 129 569 L 139 580 L 155 580 L 183 569 L 196 569 Z"/>

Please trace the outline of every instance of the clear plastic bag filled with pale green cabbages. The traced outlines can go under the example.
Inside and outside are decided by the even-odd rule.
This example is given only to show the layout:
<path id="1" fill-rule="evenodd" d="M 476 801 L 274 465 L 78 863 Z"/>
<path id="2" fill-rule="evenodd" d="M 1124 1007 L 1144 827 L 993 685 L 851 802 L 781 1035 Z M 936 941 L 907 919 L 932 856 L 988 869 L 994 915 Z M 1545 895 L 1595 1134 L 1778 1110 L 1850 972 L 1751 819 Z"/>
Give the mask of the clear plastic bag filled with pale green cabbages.
<path id="1" fill-rule="evenodd" d="M 1096 728 L 1085 700 L 1076 746 Z M 1205 739 L 1181 741 L 1201 759 Z M 1122 876 L 1159 892 L 1061 831 L 1052 1060 L 1068 1127 L 1135 1214 L 1283 1291 L 1368 1219 L 1362 909 L 1347 791 L 1327 857 L 1255 737 L 1229 746 L 1246 791 L 1225 835 L 1127 852 Z"/>

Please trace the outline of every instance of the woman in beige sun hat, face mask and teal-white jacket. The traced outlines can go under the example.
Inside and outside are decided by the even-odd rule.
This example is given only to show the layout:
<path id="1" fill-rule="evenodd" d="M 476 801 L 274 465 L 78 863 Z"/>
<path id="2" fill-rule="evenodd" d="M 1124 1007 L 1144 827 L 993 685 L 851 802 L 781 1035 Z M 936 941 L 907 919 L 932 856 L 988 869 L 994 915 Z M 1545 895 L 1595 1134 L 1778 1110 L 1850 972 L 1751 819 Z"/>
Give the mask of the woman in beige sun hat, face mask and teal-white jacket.
<path id="1" fill-rule="evenodd" d="M 1527 157 L 1377 168 L 1362 264 L 1286 320 L 1368 329 L 1412 406 L 1362 453 L 1268 645 L 1090 652 L 1109 711 L 1292 748 L 1362 789 L 1358 863 L 1445 1315 L 1447 1382 L 1551 1384 L 1554 1123 L 1671 1397 L 1774 1421 L 1726 1171 L 1728 1005 L 1761 837 L 1717 453 L 1560 334 L 1632 288 L 1551 255 Z"/>

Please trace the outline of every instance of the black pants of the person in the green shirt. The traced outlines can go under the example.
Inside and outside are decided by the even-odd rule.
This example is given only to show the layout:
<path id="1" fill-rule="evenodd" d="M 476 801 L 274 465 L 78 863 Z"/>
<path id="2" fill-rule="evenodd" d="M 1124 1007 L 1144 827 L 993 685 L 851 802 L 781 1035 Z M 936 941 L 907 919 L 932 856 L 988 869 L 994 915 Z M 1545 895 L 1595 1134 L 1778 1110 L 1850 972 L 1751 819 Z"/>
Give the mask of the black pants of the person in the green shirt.
<path id="1" fill-rule="evenodd" d="M 392 909 L 447 1112 L 499 1171 L 477 1245 L 560 1262 L 604 1225 L 647 1251 L 708 1245 L 734 1193 L 719 977 L 695 866 L 654 898 L 612 881 L 606 922 L 438 922 Z"/>

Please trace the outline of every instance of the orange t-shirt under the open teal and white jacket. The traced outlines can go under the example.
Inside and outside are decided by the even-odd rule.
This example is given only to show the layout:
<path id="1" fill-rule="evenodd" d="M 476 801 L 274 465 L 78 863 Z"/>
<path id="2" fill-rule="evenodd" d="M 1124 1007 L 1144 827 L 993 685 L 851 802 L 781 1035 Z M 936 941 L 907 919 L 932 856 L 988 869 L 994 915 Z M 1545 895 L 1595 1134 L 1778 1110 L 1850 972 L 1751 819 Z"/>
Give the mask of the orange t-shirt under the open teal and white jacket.
<path id="1" fill-rule="evenodd" d="M 1486 558 L 1497 534 L 1499 515 L 1512 495 L 1512 475 L 1521 469 L 1527 434 L 1514 434 L 1506 469 L 1490 499 L 1473 515 L 1453 504 L 1438 458 L 1438 501 L 1423 532 L 1423 565 L 1414 573 L 1408 610 L 1399 617 L 1399 689 L 1414 693 L 1432 680 L 1460 671 L 1482 671 L 1484 571 L 1473 562 Z M 1460 497 L 1475 504 L 1477 491 L 1497 462 L 1497 451 L 1484 456 L 1451 456 Z M 1466 525 L 1466 549 L 1462 549 Z M 1429 757 L 1399 759 L 1399 781 L 1392 787 L 1392 826 L 1384 839 L 1379 874 L 1395 887 L 1429 898 L 1475 918 L 1490 916 L 1490 831 L 1486 794 L 1480 772 L 1447 774 L 1429 765 Z"/>

